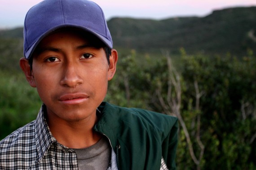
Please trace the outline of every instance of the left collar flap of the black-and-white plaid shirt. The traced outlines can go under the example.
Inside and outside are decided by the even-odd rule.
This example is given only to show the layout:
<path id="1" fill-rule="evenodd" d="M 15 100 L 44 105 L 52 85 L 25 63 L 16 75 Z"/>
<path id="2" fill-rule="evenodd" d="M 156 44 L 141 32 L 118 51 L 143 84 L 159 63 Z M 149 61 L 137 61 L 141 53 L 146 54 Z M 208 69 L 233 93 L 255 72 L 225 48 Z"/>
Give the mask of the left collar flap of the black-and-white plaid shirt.
<path id="1" fill-rule="evenodd" d="M 50 132 L 49 126 L 46 122 L 45 114 L 46 106 L 43 104 L 35 120 L 35 143 L 37 152 L 39 154 L 37 161 L 40 161 L 50 146 L 57 142 L 57 140 Z"/>

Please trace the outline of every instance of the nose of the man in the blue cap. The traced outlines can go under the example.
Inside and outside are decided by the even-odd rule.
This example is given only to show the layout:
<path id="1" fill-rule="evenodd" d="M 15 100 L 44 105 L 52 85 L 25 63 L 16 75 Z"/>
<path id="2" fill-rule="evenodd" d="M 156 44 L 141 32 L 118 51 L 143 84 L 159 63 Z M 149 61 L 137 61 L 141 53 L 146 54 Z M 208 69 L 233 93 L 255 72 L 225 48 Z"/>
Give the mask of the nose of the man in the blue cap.
<path id="1" fill-rule="evenodd" d="M 63 76 L 61 85 L 66 87 L 76 87 L 83 83 L 83 79 L 79 76 L 79 67 L 73 63 L 68 63 L 63 68 Z"/>

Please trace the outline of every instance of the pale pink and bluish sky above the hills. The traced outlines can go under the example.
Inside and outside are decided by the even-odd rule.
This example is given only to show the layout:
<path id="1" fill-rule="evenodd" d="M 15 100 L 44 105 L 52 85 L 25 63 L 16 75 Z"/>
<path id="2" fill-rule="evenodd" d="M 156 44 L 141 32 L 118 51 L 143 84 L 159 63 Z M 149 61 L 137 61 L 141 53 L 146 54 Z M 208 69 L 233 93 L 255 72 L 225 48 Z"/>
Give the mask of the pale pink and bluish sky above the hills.
<path id="1" fill-rule="evenodd" d="M 26 12 L 42 0 L 0 0 L 0 28 L 23 26 Z M 213 10 L 256 6 L 256 0 L 93 0 L 112 17 L 165 19 L 204 17 Z"/>

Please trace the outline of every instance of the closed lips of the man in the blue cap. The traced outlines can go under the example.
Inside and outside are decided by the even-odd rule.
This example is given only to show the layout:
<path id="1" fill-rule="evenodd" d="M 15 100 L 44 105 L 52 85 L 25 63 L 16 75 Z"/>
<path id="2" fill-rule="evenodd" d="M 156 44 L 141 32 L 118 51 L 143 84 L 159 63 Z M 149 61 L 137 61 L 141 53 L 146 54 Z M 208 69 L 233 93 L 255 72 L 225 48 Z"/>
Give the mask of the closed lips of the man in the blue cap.
<path id="1" fill-rule="evenodd" d="M 70 94 L 64 94 L 59 98 L 59 101 L 64 104 L 79 104 L 81 102 L 84 102 L 88 99 L 87 94 L 83 93 L 70 93 Z"/>

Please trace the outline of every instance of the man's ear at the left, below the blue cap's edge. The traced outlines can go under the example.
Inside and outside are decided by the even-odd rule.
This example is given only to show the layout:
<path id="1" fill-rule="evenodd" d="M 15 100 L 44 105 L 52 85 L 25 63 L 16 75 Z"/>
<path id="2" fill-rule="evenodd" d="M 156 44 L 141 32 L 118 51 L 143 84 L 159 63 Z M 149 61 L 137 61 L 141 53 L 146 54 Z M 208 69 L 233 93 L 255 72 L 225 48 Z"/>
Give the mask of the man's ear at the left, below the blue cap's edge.
<path id="1" fill-rule="evenodd" d="M 25 57 L 22 57 L 20 59 L 20 67 L 21 67 L 22 71 L 24 72 L 24 74 L 26 76 L 26 80 L 29 82 L 31 87 L 36 87 L 33 72 L 31 72 L 30 65 L 28 64 L 28 59 L 26 59 Z"/>

